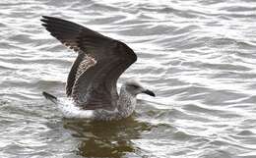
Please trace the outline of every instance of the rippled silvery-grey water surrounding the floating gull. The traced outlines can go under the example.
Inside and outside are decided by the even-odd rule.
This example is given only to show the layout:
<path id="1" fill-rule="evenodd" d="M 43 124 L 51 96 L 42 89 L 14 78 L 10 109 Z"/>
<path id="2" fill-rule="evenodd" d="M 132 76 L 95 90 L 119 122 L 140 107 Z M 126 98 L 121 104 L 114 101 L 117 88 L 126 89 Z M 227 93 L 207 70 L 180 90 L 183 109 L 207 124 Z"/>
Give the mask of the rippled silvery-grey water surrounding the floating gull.
<path id="1" fill-rule="evenodd" d="M 1 0 L 0 157 L 256 157 L 256 3 Z M 139 96 L 120 122 L 63 119 L 41 91 L 65 96 L 76 53 L 40 26 L 56 16 L 127 43 Z"/>

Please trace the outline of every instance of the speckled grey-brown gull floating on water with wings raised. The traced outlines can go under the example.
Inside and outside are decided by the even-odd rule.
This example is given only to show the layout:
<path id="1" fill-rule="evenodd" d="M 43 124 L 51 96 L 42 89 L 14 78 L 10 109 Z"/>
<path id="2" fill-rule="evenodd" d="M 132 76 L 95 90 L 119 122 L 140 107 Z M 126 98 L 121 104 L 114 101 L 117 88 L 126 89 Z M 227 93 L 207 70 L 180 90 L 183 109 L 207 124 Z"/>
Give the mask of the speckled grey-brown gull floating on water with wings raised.
<path id="1" fill-rule="evenodd" d="M 121 120 L 135 111 L 138 94 L 155 96 L 134 79 L 125 81 L 118 94 L 117 79 L 137 60 L 125 43 L 59 18 L 42 16 L 41 22 L 52 36 L 78 53 L 66 83 L 69 101 L 42 92 L 65 117 Z"/>

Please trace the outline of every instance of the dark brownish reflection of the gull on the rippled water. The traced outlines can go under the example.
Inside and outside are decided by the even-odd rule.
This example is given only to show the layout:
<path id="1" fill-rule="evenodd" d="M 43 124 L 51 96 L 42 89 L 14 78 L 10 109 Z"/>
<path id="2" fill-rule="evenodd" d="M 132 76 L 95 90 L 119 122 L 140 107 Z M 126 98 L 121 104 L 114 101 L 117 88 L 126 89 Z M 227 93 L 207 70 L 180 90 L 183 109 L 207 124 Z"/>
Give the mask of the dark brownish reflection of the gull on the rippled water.
<path id="1" fill-rule="evenodd" d="M 86 157 L 122 157 L 138 153 L 140 149 L 132 140 L 141 137 L 141 132 L 151 130 L 148 123 L 134 117 L 113 122 L 86 122 L 64 120 L 64 128 L 79 138 L 78 154 Z"/>

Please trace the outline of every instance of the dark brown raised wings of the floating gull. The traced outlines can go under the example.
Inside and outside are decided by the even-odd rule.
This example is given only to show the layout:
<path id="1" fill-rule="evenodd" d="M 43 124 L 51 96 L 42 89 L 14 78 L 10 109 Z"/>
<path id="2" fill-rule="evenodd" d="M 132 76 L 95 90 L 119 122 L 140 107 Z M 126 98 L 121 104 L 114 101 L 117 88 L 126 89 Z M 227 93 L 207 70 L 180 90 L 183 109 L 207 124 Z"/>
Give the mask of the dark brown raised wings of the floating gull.
<path id="1" fill-rule="evenodd" d="M 78 52 L 67 80 L 67 95 L 85 109 L 116 107 L 116 81 L 137 60 L 133 50 L 85 26 L 45 16 L 41 21 L 51 35 Z"/>

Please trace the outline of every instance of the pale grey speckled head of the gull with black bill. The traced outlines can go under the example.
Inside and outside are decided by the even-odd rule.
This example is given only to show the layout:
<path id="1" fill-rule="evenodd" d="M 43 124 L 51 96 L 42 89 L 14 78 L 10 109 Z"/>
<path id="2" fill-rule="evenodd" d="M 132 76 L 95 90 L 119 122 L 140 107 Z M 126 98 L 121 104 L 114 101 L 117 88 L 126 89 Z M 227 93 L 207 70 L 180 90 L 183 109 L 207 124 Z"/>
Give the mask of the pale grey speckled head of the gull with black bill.
<path id="1" fill-rule="evenodd" d="M 135 79 L 127 80 L 124 83 L 124 85 L 125 85 L 125 90 L 134 96 L 136 96 L 137 94 L 141 94 L 141 93 L 145 93 L 145 94 L 148 94 L 148 95 L 154 96 L 154 97 L 156 96 L 156 94 L 152 90 L 144 87 L 141 84 L 141 82 L 138 80 L 135 80 Z"/>

